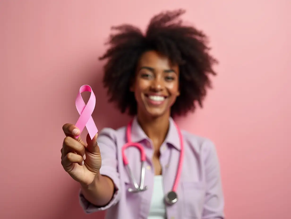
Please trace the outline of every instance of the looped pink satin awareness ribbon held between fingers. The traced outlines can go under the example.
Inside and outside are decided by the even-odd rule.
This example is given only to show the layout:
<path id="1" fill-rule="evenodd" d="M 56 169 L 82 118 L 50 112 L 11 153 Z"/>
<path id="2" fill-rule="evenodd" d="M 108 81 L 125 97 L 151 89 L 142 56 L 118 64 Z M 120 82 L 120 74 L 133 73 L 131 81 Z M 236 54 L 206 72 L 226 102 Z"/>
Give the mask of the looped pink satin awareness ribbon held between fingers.
<path id="1" fill-rule="evenodd" d="M 84 100 L 81 96 L 81 93 L 85 91 L 91 92 L 87 105 L 84 103 Z M 77 108 L 78 113 L 80 114 L 80 117 L 76 123 L 76 126 L 80 130 L 80 134 L 86 126 L 91 140 L 98 132 L 98 129 L 91 116 L 94 111 L 95 104 L 96 104 L 96 97 L 93 93 L 92 88 L 89 85 L 81 86 L 79 94 L 77 95 L 77 98 L 76 98 L 76 108 Z M 79 136 L 76 136 L 76 138 L 78 138 Z"/>

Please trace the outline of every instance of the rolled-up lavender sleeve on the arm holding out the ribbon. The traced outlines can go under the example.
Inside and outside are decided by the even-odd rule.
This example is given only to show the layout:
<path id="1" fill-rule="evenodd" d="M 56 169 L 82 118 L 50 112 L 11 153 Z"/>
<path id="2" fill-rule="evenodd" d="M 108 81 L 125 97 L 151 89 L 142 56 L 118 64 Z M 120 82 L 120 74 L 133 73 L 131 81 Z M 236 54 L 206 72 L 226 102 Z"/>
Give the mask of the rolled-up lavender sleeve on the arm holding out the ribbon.
<path id="1" fill-rule="evenodd" d="M 96 211 L 104 211 L 111 206 L 118 203 L 120 200 L 120 178 L 117 171 L 118 160 L 116 151 L 116 134 L 114 129 L 104 128 L 98 133 L 97 137 L 98 146 L 102 157 L 102 166 L 100 174 L 112 179 L 115 192 L 111 201 L 106 206 L 95 206 L 88 202 L 83 194 L 79 193 L 79 201 L 85 213 L 93 213 Z"/>

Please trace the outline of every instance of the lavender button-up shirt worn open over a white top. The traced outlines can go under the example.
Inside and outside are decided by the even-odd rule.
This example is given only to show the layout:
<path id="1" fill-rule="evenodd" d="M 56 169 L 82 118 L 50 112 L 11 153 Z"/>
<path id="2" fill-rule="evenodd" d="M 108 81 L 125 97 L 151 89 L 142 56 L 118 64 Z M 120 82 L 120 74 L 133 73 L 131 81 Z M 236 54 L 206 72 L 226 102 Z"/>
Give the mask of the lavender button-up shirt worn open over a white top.
<path id="1" fill-rule="evenodd" d="M 146 219 L 149 215 L 152 198 L 154 170 L 152 164 L 153 143 L 143 132 L 136 118 L 132 124 L 132 141 L 144 146 L 146 153 L 145 186 L 148 190 L 129 193 L 132 183 L 123 166 L 121 147 L 126 143 L 126 127 L 117 130 L 104 128 L 98 134 L 98 145 L 102 156 L 100 173 L 110 177 L 117 189 L 112 200 L 104 207 L 89 203 L 80 193 L 81 206 L 86 213 L 107 209 L 106 218 L 110 219 Z M 177 188 L 178 201 L 172 206 L 166 205 L 168 219 L 224 218 L 223 192 L 214 144 L 202 137 L 182 131 L 184 140 L 184 161 L 182 174 Z M 180 140 L 177 129 L 170 118 L 168 135 L 160 149 L 164 194 L 172 189 L 180 156 Z M 139 150 L 129 147 L 125 152 L 132 173 L 140 182 L 141 161 Z"/>

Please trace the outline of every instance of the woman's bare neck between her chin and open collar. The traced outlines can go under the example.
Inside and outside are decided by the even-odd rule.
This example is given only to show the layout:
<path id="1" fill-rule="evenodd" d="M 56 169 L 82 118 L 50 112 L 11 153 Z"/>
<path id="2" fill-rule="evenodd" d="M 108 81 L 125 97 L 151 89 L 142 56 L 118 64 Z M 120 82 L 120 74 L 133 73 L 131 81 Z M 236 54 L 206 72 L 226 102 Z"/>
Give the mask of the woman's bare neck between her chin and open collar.
<path id="1" fill-rule="evenodd" d="M 162 144 L 169 129 L 170 113 L 165 113 L 159 117 L 150 117 L 137 114 L 137 121 L 145 134 L 154 142 Z M 158 143 L 158 144 L 159 144 Z"/>

